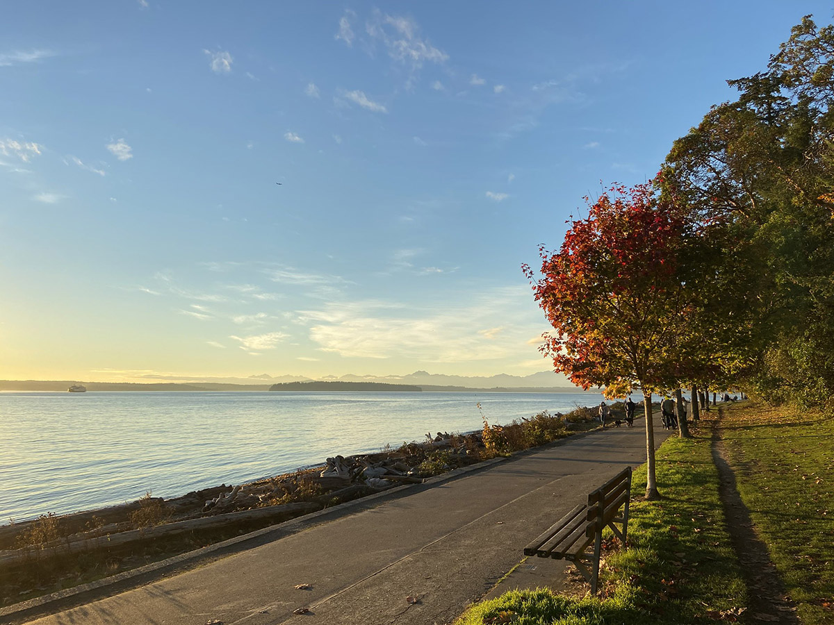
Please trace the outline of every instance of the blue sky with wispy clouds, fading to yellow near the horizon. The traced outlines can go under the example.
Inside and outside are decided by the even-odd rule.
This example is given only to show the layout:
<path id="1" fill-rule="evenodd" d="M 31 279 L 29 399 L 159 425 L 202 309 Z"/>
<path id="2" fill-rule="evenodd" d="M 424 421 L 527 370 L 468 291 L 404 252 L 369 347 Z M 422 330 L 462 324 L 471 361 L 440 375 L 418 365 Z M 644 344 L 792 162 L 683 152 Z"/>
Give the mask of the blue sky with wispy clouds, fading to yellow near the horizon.
<path id="1" fill-rule="evenodd" d="M 521 264 L 834 2 L 3 13 L 0 379 L 107 382 L 550 369 Z"/>

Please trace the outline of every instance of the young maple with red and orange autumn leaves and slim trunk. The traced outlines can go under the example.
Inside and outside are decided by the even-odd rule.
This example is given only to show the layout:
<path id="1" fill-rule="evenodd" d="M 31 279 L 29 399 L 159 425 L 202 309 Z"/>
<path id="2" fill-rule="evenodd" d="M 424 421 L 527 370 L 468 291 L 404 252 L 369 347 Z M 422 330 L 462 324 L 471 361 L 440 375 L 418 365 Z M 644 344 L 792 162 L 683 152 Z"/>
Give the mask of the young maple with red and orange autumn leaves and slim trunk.
<path id="1" fill-rule="evenodd" d="M 610 398 L 641 388 L 650 499 L 658 497 L 651 394 L 673 388 L 697 306 L 687 288 L 692 235 L 685 213 L 651 183 L 615 186 L 589 201 L 558 253 L 540 246 L 540 277 L 523 267 L 554 328 L 541 350 L 555 370 Z"/>

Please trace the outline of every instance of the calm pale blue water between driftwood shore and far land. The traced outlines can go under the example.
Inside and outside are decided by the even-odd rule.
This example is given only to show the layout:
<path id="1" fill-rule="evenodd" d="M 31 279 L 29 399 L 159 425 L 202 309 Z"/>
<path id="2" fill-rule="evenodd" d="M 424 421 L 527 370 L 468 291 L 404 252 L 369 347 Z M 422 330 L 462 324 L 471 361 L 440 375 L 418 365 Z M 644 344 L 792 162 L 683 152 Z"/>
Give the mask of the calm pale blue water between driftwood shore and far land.
<path id="1" fill-rule="evenodd" d="M 480 429 L 591 393 L 0 393 L 0 523 L 174 497 Z"/>

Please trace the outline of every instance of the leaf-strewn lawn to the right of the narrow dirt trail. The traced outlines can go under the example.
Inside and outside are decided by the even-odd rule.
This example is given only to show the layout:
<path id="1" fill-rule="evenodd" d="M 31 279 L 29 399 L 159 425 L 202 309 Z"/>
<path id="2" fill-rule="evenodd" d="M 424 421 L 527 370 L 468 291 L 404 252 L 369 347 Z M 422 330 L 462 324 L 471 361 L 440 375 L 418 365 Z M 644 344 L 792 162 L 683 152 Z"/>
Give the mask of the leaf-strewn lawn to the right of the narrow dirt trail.
<path id="1" fill-rule="evenodd" d="M 722 438 L 741 499 L 806 625 L 834 620 L 834 422 L 727 407 Z"/>

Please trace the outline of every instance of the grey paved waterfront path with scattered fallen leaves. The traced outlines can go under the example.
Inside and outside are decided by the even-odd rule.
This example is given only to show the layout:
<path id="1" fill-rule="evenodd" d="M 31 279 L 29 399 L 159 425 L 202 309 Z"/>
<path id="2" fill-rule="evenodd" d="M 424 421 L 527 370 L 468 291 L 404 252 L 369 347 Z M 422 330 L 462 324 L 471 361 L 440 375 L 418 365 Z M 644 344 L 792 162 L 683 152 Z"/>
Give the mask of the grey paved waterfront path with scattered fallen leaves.
<path id="1" fill-rule="evenodd" d="M 447 623 L 592 488 L 646 459 L 645 428 L 606 428 L 349 508 L 192 571 L 38 625 Z M 656 443 L 666 438 L 655 423 Z M 309 583 L 312 590 L 295 590 Z M 409 604 L 405 597 L 418 597 Z M 308 607 L 309 613 L 293 611 Z"/>

